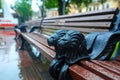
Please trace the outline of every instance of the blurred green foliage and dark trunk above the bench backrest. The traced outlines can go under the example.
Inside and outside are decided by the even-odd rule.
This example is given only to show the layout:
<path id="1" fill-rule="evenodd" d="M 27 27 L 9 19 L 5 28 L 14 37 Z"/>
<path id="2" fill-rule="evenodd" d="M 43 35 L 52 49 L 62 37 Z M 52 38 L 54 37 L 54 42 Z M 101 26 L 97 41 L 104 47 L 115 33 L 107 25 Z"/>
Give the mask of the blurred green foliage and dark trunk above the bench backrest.
<path id="1" fill-rule="evenodd" d="M 101 4 L 106 2 L 107 0 L 99 0 Z M 45 0 L 45 7 L 47 9 L 50 8 L 58 8 L 59 15 L 63 15 L 66 10 L 66 7 L 69 7 L 69 4 L 76 4 L 78 7 L 84 5 L 88 8 L 89 4 L 91 4 L 93 0 Z M 65 11 L 66 10 L 66 11 Z"/>

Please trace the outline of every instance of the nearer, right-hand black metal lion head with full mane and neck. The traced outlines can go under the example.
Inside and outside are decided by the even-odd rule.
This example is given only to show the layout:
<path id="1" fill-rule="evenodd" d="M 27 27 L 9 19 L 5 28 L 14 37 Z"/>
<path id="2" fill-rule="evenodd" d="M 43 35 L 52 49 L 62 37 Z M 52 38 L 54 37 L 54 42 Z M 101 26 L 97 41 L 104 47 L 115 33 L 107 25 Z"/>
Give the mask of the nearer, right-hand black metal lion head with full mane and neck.
<path id="1" fill-rule="evenodd" d="M 65 51 L 66 63 L 68 64 L 88 58 L 85 37 L 79 31 L 68 31 L 58 40 L 58 47 Z"/>

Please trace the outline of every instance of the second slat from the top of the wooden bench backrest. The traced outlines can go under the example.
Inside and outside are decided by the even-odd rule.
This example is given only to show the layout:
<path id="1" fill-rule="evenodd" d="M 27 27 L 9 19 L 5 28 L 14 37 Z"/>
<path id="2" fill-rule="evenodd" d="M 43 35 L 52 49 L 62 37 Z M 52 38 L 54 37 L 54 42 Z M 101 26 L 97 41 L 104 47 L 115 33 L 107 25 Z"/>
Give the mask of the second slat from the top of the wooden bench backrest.
<path id="1" fill-rule="evenodd" d="M 64 22 L 87 22 L 87 21 L 110 21 L 114 17 L 114 14 L 108 14 L 108 15 L 98 15 L 98 16 L 87 16 L 87 17 L 77 17 L 77 18 L 68 18 L 68 19 L 56 19 L 56 20 L 44 20 L 43 24 L 45 23 L 55 23 L 56 21 L 64 21 Z"/>

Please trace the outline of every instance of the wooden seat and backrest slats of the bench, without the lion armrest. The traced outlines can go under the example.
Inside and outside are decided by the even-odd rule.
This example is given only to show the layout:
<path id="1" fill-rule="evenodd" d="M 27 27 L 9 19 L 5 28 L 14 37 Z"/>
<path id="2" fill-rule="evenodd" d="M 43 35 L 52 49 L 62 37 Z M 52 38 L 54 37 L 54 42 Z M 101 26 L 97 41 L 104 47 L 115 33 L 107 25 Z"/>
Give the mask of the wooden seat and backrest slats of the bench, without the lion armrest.
<path id="1" fill-rule="evenodd" d="M 16 31 L 51 62 L 56 52 L 53 46 L 48 45 L 47 39 L 56 30 L 77 30 L 85 36 L 90 32 L 117 32 L 120 27 L 120 12 L 117 8 L 112 8 L 31 20 L 25 22 L 25 25 L 40 26 L 38 33 L 21 32 L 19 29 Z M 69 73 L 74 80 L 119 80 L 120 57 L 118 56 L 116 60 L 104 61 L 81 60 L 69 67 Z"/>

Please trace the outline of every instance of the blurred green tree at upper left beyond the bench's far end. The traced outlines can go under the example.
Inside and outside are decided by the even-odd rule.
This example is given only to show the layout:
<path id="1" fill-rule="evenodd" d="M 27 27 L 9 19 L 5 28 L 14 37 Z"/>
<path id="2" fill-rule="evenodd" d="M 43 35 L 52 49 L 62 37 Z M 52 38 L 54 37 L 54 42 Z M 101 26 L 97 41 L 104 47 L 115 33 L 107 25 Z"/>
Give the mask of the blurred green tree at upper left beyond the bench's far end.
<path id="1" fill-rule="evenodd" d="M 22 17 L 22 20 L 28 20 L 32 16 L 32 0 L 16 0 L 14 8 Z"/>

